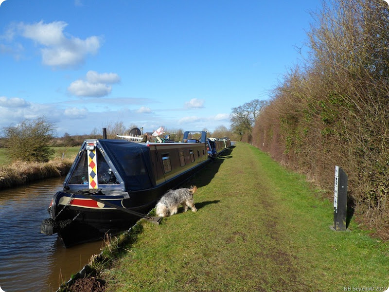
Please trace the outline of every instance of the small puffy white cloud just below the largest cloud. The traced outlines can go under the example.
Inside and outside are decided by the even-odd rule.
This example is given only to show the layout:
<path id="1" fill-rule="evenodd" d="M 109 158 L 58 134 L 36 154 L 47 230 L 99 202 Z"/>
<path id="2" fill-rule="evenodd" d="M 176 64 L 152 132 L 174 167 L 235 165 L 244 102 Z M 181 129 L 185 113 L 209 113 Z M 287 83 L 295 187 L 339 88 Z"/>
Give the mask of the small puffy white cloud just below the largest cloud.
<path id="1" fill-rule="evenodd" d="M 120 82 L 120 77 L 116 73 L 97 73 L 95 71 L 88 71 L 86 79 L 71 82 L 68 91 L 76 96 L 102 97 L 112 91 L 112 86 L 108 84 Z"/>

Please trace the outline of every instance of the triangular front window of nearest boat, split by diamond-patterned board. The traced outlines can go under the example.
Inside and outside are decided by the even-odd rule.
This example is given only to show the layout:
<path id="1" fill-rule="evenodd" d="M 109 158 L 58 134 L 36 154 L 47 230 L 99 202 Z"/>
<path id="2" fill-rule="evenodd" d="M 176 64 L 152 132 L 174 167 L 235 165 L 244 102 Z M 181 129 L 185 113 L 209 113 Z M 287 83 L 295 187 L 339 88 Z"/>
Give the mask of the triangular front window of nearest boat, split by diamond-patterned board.
<path id="1" fill-rule="evenodd" d="M 89 184 L 88 183 L 88 157 L 86 150 L 83 151 L 81 158 L 74 170 L 70 184 Z M 113 173 L 110 166 L 107 164 L 103 154 L 96 149 L 95 154 L 97 154 L 97 182 L 99 184 L 119 184 L 115 174 Z"/>

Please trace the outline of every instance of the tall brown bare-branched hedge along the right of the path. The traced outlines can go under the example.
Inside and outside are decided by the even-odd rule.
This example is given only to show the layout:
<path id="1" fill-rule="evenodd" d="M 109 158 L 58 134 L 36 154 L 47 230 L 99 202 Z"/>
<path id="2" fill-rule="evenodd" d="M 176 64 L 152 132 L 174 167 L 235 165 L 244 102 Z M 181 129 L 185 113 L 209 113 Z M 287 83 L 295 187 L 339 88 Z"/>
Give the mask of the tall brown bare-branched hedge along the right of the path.
<path id="1" fill-rule="evenodd" d="M 254 145 L 331 194 L 335 165 L 371 222 L 389 222 L 389 9 L 329 0 L 308 33 L 310 54 L 274 90 Z"/>

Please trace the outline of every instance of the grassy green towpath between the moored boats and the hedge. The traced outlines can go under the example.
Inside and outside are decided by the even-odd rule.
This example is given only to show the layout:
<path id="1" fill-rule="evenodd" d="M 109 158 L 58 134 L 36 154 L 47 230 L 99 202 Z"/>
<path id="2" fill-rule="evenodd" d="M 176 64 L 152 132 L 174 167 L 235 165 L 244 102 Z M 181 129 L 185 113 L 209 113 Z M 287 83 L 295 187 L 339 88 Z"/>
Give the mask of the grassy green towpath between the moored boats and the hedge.
<path id="1" fill-rule="evenodd" d="M 368 237 L 353 221 L 352 232 L 330 230 L 332 202 L 257 148 L 238 143 L 189 183 L 199 187 L 198 211 L 181 208 L 159 226 L 144 222 L 136 241 L 101 273 L 106 291 L 388 286 L 388 243 Z"/>

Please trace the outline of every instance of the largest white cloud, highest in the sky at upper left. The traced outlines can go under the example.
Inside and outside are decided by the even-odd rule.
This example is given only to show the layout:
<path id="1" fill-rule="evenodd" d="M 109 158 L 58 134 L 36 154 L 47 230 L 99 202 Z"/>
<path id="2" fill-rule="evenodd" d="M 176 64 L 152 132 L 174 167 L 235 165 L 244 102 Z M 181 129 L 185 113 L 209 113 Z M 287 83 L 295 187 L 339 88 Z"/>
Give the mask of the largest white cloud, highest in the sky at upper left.
<path id="1" fill-rule="evenodd" d="M 66 37 L 63 30 L 68 24 L 64 21 L 11 25 L 2 37 L 10 41 L 16 35 L 32 39 L 41 47 L 42 63 L 54 68 L 71 68 L 82 64 L 87 55 L 96 54 L 101 46 L 101 39 L 96 36 L 80 39 Z"/>

